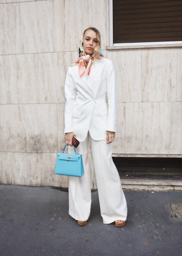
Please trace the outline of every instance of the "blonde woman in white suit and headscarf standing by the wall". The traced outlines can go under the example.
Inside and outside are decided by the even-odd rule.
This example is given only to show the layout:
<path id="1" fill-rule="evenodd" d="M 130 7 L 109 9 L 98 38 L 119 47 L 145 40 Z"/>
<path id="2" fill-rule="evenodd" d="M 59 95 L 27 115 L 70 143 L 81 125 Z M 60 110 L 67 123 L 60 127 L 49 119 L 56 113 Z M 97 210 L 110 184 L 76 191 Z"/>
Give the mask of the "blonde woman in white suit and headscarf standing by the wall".
<path id="1" fill-rule="evenodd" d="M 77 152 L 82 154 L 84 175 L 69 177 L 69 214 L 81 226 L 86 224 L 90 215 L 91 187 L 87 155 L 90 140 L 103 223 L 115 221 L 115 225 L 121 227 L 125 225 L 127 205 L 111 157 L 118 107 L 114 66 L 111 60 L 102 57 L 100 33 L 96 28 L 90 27 L 84 31 L 79 54 L 78 64 L 68 68 L 65 81 L 64 133 L 67 145 L 72 146 L 73 136 L 80 141 Z M 69 147 L 70 150 L 72 148 Z"/>

